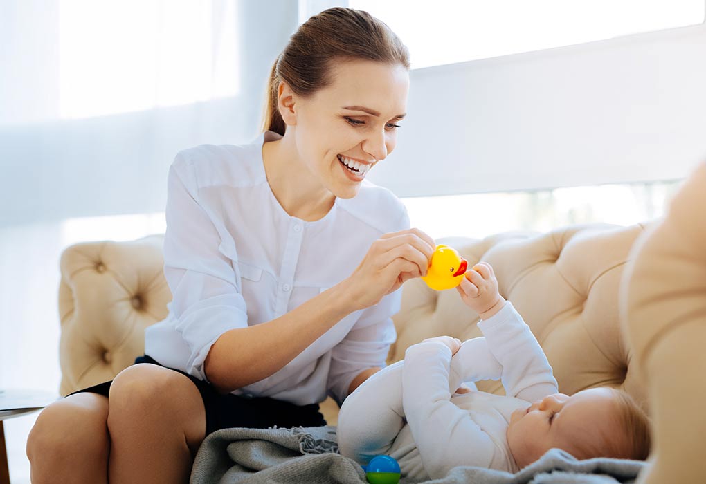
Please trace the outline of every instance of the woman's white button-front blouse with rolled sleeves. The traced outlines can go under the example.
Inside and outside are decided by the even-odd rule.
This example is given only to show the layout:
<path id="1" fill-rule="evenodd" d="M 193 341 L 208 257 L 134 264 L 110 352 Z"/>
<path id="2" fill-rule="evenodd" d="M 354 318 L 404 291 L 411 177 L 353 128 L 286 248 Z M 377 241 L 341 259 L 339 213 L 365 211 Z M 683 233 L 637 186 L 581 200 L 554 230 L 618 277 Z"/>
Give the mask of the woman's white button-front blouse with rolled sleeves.
<path id="1" fill-rule="evenodd" d="M 352 274 L 381 235 L 409 228 L 402 202 L 369 181 L 316 222 L 289 216 L 263 166 L 263 143 L 279 138 L 200 145 L 169 168 L 164 276 L 173 299 L 145 331 L 145 354 L 162 365 L 206 380 L 203 362 L 223 333 L 284 315 Z M 344 317 L 277 373 L 233 393 L 342 401 L 356 375 L 385 365 L 400 297 Z"/>

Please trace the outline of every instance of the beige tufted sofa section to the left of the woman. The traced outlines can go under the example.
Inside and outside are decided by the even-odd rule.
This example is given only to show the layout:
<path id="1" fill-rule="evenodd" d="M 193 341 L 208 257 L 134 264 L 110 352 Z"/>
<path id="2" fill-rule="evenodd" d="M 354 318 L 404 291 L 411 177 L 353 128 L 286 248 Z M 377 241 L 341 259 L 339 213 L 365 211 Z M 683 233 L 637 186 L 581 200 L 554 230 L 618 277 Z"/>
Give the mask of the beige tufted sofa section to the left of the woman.
<path id="1" fill-rule="evenodd" d="M 61 255 L 62 395 L 112 380 L 144 352 L 145 328 L 167 316 L 162 235 L 88 242 Z"/>

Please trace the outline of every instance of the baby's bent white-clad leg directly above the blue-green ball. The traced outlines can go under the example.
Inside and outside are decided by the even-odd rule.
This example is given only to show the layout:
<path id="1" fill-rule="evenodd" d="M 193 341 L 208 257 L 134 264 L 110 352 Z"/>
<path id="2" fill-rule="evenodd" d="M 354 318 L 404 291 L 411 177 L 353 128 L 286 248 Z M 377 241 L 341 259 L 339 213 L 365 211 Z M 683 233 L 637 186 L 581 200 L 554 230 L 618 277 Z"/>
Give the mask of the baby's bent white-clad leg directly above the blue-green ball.
<path id="1" fill-rule="evenodd" d="M 405 425 L 402 363 L 383 368 L 350 394 L 338 413 L 339 452 L 360 464 L 387 454 Z"/>

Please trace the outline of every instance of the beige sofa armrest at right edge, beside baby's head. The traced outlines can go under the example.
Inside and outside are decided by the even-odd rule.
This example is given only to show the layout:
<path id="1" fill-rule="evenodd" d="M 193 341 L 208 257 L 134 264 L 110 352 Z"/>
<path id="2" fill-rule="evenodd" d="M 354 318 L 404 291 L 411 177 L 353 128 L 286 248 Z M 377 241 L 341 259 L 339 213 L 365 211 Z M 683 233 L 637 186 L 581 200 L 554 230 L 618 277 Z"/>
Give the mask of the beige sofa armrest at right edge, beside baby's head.
<path id="1" fill-rule="evenodd" d="M 706 476 L 706 164 L 664 220 L 635 244 L 623 280 L 623 325 L 652 409 L 647 483 Z"/>

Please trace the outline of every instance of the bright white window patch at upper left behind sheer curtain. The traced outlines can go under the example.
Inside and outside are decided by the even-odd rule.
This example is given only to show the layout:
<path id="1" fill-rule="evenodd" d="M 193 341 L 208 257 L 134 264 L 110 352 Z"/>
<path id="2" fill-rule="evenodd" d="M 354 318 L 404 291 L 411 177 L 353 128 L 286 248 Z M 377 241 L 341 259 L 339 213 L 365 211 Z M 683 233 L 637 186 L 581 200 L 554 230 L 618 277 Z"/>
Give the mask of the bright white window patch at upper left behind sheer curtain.
<path id="1" fill-rule="evenodd" d="M 237 2 L 61 0 L 61 118 L 237 95 Z"/>

